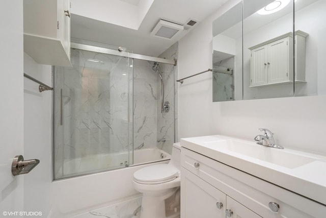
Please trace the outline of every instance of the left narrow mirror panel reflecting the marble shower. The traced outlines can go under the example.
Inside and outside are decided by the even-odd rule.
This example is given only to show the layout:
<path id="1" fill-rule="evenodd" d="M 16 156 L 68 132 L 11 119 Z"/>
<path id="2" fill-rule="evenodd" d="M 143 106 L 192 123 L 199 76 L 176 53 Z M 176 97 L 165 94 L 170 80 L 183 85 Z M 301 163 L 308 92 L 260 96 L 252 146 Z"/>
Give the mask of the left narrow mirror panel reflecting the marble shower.
<path id="1" fill-rule="evenodd" d="M 213 102 L 242 100 L 242 2 L 213 21 Z"/>

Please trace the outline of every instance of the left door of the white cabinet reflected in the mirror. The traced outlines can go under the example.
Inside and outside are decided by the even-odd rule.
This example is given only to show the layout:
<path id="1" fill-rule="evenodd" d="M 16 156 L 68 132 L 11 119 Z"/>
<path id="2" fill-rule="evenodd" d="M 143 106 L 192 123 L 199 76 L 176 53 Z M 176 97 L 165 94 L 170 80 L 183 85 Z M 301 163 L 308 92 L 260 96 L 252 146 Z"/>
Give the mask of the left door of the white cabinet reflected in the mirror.
<path id="1" fill-rule="evenodd" d="M 267 84 L 267 45 L 251 52 L 251 85 Z"/>

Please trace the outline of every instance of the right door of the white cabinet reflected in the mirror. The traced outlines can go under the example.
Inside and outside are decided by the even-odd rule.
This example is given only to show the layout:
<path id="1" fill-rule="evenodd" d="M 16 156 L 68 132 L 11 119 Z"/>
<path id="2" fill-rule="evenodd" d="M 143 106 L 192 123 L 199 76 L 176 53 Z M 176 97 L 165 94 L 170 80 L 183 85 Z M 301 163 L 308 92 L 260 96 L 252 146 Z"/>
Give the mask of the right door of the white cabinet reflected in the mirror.
<path id="1" fill-rule="evenodd" d="M 268 44 L 268 83 L 288 81 L 288 37 Z"/>

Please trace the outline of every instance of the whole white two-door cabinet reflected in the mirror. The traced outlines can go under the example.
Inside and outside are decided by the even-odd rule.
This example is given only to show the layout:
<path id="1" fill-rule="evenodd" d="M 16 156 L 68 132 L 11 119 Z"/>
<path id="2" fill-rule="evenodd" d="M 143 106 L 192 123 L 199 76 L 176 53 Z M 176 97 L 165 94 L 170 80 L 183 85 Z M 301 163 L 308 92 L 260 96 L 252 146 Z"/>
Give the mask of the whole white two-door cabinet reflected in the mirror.
<path id="1" fill-rule="evenodd" d="M 295 32 L 295 81 L 305 82 L 306 34 Z M 292 33 L 270 39 L 249 48 L 250 87 L 293 83 Z"/>

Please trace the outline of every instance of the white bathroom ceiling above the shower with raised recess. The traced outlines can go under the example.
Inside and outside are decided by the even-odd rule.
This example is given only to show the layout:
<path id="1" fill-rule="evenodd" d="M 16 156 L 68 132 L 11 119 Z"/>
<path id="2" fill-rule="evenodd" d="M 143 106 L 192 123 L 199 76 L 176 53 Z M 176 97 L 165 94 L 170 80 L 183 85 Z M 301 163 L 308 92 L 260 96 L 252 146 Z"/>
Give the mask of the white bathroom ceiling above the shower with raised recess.
<path id="1" fill-rule="evenodd" d="M 157 57 L 193 29 L 184 30 L 173 39 L 151 36 L 160 19 L 180 25 L 189 19 L 200 23 L 227 1 L 71 0 L 71 37 L 122 46 L 137 54 Z"/>

